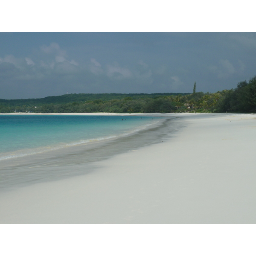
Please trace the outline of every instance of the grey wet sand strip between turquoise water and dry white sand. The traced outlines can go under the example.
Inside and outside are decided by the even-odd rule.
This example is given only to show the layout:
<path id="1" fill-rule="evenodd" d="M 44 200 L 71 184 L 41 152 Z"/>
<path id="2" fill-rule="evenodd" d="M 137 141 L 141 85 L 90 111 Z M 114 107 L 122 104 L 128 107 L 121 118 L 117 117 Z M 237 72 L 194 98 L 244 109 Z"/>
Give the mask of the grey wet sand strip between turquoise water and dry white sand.
<path id="1" fill-rule="evenodd" d="M 160 143 L 162 140 L 164 142 L 181 127 L 181 123 L 174 122 L 173 118 L 147 116 L 146 119 L 145 116 L 143 118 L 141 116 L 136 117 L 137 121 L 144 119 L 147 122 L 143 121 L 144 126 L 137 125 L 133 126 L 132 129 L 129 127 L 130 133 L 125 133 L 122 130 L 122 136 L 119 137 L 61 147 L 53 151 L 44 151 L 40 154 L 30 154 L 26 157 L 15 157 L 1 161 L 0 190 L 92 172 L 94 169 L 90 163 L 107 159 L 115 154 L 137 150 L 142 146 Z M 115 119 L 124 119 L 124 121 L 127 119 L 126 121 L 128 121 L 127 116 L 116 116 Z M 156 120 L 158 122 L 155 122 Z M 154 124 L 148 125 L 149 123 L 152 124 L 152 121 Z"/>

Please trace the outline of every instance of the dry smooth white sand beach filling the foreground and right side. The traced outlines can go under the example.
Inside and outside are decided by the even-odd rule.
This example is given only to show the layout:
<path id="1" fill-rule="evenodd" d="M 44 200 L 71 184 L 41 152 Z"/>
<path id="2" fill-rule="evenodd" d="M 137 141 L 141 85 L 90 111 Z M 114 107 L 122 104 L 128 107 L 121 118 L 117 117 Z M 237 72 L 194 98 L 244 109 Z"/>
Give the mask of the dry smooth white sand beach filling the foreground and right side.
<path id="1" fill-rule="evenodd" d="M 164 115 L 183 127 L 163 142 L 1 192 L 0 223 L 255 224 L 256 114 Z"/>

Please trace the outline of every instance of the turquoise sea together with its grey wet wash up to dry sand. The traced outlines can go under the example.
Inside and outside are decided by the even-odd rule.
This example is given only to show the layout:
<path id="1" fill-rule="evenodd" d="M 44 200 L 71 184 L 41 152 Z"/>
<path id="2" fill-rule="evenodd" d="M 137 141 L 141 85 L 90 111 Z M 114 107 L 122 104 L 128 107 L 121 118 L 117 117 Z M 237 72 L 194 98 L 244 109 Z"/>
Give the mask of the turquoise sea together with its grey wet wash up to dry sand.
<path id="1" fill-rule="evenodd" d="M 0 190 L 91 172 L 92 162 L 161 141 L 169 121 L 141 115 L 0 115 Z"/>

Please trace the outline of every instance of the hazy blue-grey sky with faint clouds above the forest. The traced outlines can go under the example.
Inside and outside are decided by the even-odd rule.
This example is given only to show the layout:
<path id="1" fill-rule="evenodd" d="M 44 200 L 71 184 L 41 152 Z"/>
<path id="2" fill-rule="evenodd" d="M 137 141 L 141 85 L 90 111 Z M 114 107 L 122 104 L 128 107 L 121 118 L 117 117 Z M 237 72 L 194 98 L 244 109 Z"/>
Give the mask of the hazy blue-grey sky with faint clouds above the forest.
<path id="1" fill-rule="evenodd" d="M 255 32 L 0 32 L 1 99 L 213 93 L 255 67 Z"/>

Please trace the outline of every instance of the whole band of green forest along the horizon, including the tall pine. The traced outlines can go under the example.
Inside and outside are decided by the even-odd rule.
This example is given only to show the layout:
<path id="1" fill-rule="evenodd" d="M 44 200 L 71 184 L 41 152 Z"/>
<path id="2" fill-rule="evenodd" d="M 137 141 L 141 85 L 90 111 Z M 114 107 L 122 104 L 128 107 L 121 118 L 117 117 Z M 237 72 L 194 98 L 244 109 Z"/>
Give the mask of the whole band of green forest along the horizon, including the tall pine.
<path id="1" fill-rule="evenodd" d="M 0 113 L 255 113 L 256 76 L 216 93 L 79 93 L 42 99 L 0 99 Z"/>

